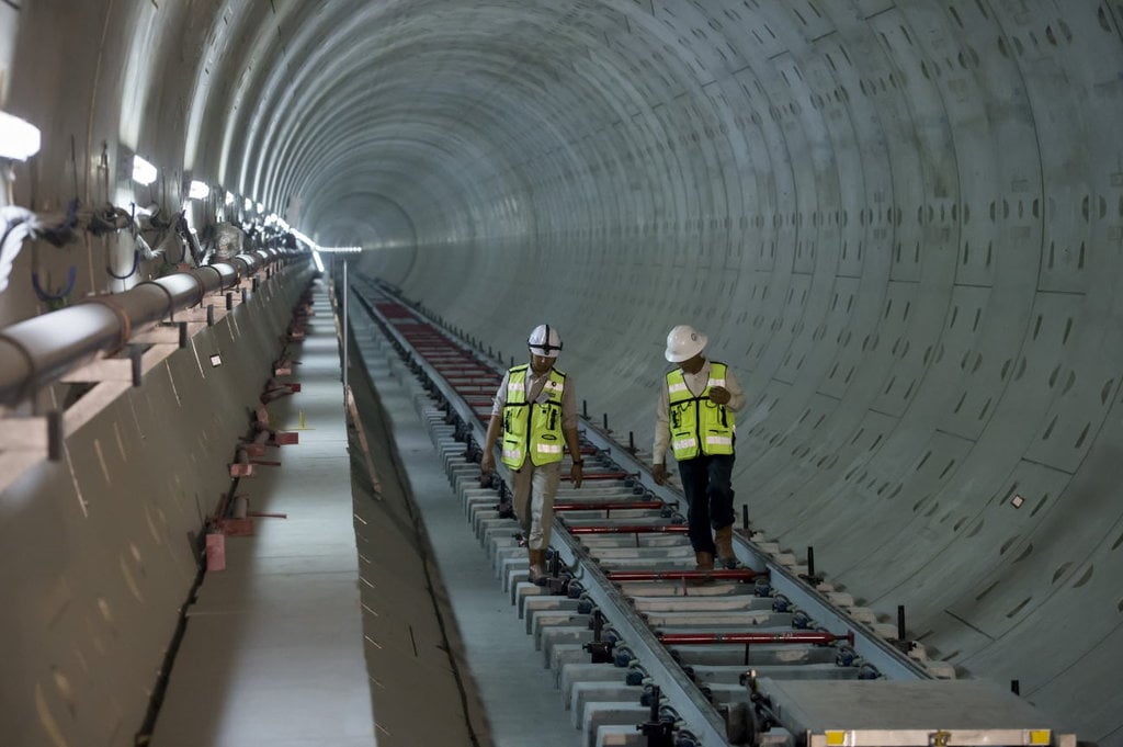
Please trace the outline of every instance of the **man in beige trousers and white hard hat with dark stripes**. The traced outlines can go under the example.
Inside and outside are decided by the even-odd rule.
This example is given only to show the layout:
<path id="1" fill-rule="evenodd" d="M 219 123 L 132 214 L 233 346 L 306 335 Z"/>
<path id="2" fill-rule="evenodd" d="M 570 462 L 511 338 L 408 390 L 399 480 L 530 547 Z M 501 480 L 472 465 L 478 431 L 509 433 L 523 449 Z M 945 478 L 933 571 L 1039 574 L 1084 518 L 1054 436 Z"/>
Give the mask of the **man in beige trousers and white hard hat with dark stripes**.
<path id="1" fill-rule="evenodd" d="M 560 481 L 563 440 L 569 448 L 569 476 L 581 488 L 582 458 L 577 441 L 577 407 L 573 381 L 554 367 L 562 336 L 539 325 L 527 340 L 530 363 L 506 372 L 495 392 L 480 470 L 495 468 L 495 443 L 502 435 L 503 464 L 514 479 L 514 514 L 522 527 L 530 559 L 530 581 L 545 577 L 546 548 L 554 525 L 554 495 Z"/>

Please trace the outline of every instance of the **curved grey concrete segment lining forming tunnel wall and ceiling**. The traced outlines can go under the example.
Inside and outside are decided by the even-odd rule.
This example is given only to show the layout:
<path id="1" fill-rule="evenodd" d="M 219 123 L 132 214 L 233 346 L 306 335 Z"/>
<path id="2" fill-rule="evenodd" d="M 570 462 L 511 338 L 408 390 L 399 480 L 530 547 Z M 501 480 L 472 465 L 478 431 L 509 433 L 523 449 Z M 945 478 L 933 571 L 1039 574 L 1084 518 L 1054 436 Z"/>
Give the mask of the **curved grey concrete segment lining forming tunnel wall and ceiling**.
<path id="1" fill-rule="evenodd" d="M 71 4 L 18 13 L 4 107 L 44 128 L 38 200 L 66 199 L 72 135 L 90 164 L 143 152 L 158 199 L 190 172 L 364 244 L 504 355 L 559 327 L 579 395 L 641 441 L 695 324 L 749 393 L 760 528 L 1123 743 L 1123 6 Z"/>

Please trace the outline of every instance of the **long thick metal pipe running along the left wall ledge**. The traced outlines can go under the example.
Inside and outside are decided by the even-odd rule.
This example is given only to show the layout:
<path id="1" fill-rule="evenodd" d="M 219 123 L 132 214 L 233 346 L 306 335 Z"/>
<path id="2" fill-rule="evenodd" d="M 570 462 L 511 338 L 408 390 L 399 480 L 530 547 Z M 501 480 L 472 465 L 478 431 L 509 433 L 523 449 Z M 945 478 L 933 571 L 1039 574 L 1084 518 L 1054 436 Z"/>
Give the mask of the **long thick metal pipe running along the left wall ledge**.
<path id="1" fill-rule="evenodd" d="M 283 256 L 275 250 L 239 254 L 216 263 L 139 283 L 124 293 L 74 306 L 0 330 L 0 404 L 15 404 L 44 384 L 119 349 L 146 325 L 202 303 Z"/>

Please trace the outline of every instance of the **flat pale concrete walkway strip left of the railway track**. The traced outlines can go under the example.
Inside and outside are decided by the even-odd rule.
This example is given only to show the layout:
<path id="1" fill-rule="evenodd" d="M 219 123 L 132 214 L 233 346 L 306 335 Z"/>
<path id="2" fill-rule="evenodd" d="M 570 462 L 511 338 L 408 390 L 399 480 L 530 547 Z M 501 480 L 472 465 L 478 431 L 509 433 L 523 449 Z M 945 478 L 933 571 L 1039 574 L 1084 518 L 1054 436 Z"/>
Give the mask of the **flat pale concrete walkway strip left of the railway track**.
<path id="1" fill-rule="evenodd" d="M 238 493 L 252 537 L 228 537 L 188 612 L 152 744 L 156 747 L 369 747 L 350 458 L 336 327 L 323 284 L 303 344 L 301 391 L 270 406 L 271 425 L 300 444 L 271 448 Z"/>

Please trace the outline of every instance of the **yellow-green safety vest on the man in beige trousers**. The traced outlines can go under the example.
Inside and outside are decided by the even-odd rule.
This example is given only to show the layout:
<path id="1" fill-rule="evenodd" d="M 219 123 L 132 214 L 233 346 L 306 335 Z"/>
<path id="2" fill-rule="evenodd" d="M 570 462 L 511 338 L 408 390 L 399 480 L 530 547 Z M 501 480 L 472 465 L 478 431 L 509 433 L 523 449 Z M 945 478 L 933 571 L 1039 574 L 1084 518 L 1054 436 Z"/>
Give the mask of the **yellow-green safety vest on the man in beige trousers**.
<path id="1" fill-rule="evenodd" d="M 535 466 L 562 461 L 562 393 L 565 374 L 550 368 L 537 402 L 527 402 L 527 372 L 530 366 L 511 368 L 503 407 L 503 464 L 518 470 L 530 455 Z"/>

